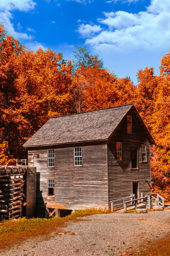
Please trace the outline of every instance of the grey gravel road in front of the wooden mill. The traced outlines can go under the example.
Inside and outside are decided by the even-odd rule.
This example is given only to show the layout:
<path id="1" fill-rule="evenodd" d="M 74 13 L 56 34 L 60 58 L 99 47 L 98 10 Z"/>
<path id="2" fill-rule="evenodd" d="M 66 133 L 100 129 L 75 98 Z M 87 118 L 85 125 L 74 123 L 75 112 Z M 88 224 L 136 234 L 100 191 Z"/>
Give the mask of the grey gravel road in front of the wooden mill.
<path id="1" fill-rule="evenodd" d="M 62 229 L 64 235 L 52 233 L 48 240 L 30 238 L 0 256 L 113 256 L 170 234 L 170 210 L 96 214 L 79 220 L 69 221 Z"/>

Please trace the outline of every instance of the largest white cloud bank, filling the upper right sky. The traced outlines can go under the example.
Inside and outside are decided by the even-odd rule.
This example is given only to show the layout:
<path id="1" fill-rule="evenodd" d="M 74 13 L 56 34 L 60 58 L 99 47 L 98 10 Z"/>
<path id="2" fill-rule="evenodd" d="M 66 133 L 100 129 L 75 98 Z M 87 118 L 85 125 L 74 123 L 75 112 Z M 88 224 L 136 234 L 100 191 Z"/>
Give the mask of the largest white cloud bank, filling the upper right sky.
<path id="1" fill-rule="evenodd" d="M 170 42 L 170 1 L 152 0 L 145 12 L 104 12 L 105 19 L 98 19 L 104 27 L 98 28 L 94 36 L 90 33 L 91 25 L 81 24 L 78 32 L 86 37 L 86 44 L 93 49 L 106 51 L 111 47 L 117 51 L 134 49 L 161 49 Z M 89 33 L 88 33 L 89 30 Z"/>

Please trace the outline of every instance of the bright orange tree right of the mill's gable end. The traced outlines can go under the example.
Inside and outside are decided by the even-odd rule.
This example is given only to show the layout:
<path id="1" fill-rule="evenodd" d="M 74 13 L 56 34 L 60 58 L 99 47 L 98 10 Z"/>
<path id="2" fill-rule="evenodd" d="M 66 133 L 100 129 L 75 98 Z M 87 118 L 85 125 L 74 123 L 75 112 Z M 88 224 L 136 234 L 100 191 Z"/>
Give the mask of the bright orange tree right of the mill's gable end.
<path id="1" fill-rule="evenodd" d="M 161 72 L 161 71 L 160 71 Z M 166 77 L 154 76 L 153 68 L 138 71 L 135 106 L 152 134 L 152 191 L 170 200 L 169 84 Z"/>

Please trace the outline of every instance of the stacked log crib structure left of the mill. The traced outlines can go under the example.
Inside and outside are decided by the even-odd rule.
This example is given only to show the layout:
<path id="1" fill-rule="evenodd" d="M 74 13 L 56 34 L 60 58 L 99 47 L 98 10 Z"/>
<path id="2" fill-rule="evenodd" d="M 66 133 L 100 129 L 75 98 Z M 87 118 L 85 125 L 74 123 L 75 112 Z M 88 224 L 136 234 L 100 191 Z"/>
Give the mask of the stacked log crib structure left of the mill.
<path id="1" fill-rule="evenodd" d="M 21 216 L 26 170 L 27 166 L 0 166 L 0 219 Z"/>

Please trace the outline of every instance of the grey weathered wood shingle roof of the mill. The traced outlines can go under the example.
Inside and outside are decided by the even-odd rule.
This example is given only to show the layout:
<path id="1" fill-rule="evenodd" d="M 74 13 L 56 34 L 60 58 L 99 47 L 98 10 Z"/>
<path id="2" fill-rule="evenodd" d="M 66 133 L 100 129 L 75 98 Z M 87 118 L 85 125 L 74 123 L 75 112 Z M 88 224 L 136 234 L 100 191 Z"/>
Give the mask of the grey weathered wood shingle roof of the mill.
<path id="1" fill-rule="evenodd" d="M 23 146 L 35 147 L 107 140 L 131 108 L 135 109 L 133 104 L 53 117 Z"/>

